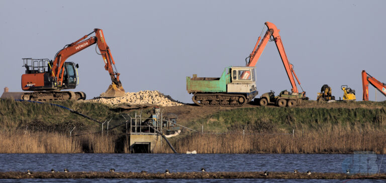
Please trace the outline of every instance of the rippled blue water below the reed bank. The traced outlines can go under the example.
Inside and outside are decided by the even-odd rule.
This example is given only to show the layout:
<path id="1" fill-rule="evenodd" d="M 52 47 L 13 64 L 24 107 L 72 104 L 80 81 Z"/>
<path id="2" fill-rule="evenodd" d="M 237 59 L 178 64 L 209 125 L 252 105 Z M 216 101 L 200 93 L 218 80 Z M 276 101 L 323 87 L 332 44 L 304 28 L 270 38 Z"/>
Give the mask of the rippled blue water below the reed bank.
<path id="1" fill-rule="evenodd" d="M 386 157 L 376 154 L 0 154 L 0 171 L 290 171 L 301 172 L 386 172 Z M 0 182 L 159 182 L 143 179 L 21 179 Z M 201 179 L 166 179 L 162 182 L 202 182 Z M 207 179 L 206 182 L 310 182 L 294 179 Z M 342 180 L 315 180 L 342 182 Z M 350 180 L 348 182 L 362 182 Z M 366 180 L 384 182 L 384 180 Z"/>

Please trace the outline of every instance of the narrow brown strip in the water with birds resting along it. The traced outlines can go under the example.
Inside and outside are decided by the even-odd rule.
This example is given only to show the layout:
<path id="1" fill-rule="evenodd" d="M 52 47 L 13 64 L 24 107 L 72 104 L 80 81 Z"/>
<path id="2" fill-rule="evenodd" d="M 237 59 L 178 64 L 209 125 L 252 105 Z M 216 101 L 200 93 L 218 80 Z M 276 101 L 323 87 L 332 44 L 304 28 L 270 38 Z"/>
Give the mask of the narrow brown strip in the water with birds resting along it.
<path id="1" fill-rule="evenodd" d="M 4 178 L 275 178 L 275 179 L 386 179 L 385 173 L 361 175 L 349 175 L 345 173 L 307 173 L 269 172 L 264 176 L 263 172 L 172 172 L 148 173 L 148 172 L 0 172 L 0 179 Z"/>

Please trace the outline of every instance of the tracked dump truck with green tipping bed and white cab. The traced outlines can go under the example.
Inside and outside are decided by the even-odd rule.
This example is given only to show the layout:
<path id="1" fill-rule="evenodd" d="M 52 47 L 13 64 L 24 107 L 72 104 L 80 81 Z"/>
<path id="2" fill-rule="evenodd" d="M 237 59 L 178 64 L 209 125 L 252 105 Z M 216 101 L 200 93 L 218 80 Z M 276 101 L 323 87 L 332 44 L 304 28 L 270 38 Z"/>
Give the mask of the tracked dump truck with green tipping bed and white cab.
<path id="1" fill-rule="evenodd" d="M 254 67 L 227 67 L 220 78 L 186 77 L 186 90 L 200 106 L 237 107 L 258 94 Z"/>

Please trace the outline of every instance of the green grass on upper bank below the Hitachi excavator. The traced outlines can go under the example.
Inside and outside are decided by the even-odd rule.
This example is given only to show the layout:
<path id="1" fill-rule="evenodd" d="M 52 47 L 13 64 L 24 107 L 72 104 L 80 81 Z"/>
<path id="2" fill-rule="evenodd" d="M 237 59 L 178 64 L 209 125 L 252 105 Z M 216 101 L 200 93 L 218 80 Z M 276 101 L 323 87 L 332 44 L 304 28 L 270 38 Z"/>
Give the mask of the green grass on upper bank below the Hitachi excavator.
<path id="1" fill-rule="evenodd" d="M 123 119 L 119 112 L 100 103 L 61 101 L 51 102 L 76 110 L 99 121 L 111 120 L 112 125 Z M 67 131 L 76 126 L 81 130 L 99 128 L 100 124 L 69 110 L 48 103 L 0 100 L 0 128 L 3 130 L 33 129 L 39 131 Z"/>

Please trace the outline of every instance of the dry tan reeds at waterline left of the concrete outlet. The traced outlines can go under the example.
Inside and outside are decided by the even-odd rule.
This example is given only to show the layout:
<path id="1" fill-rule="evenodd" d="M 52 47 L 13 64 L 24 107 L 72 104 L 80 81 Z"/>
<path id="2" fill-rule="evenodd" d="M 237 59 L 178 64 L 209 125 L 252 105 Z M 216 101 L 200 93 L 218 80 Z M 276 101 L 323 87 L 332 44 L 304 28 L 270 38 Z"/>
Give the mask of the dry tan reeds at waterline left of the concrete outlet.
<path id="1" fill-rule="evenodd" d="M 0 132 L 0 153 L 114 153 L 116 136 L 66 136 L 60 133 Z"/>

